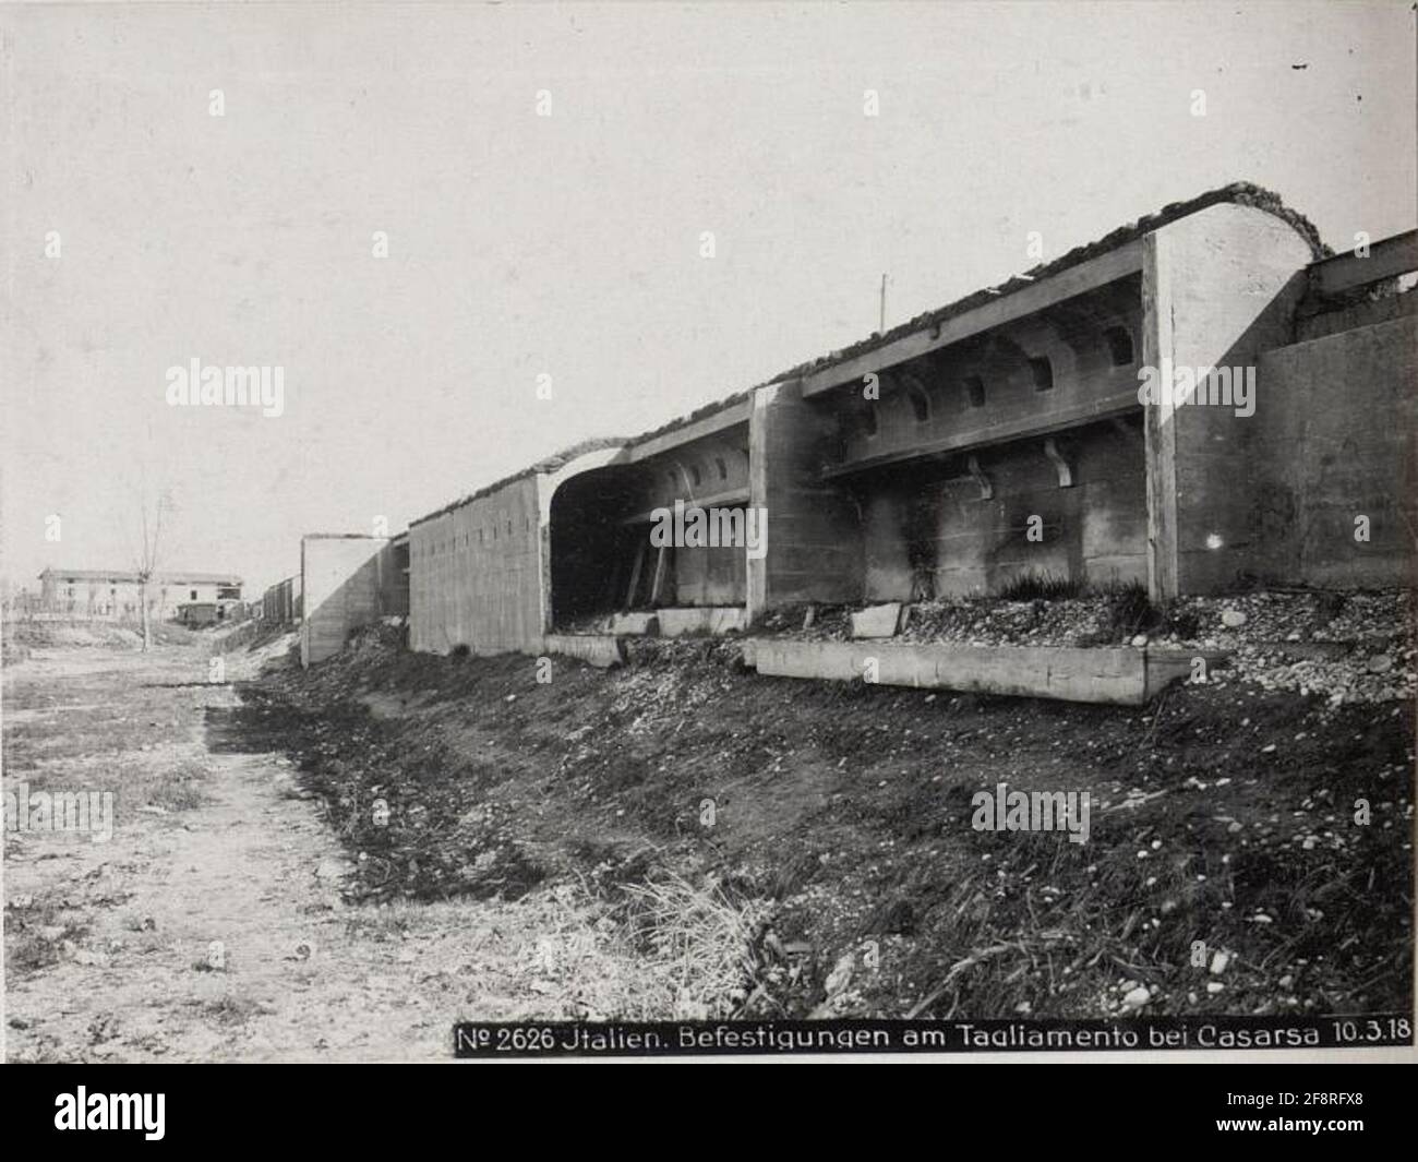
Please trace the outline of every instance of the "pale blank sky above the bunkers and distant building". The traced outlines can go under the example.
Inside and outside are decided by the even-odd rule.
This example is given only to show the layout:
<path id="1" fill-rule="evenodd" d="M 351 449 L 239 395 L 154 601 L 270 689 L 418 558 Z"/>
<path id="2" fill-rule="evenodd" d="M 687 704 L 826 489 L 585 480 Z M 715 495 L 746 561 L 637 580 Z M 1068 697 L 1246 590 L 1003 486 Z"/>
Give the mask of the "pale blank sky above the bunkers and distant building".
<path id="1" fill-rule="evenodd" d="M 258 596 L 303 532 L 397 531 L 760 383 L 873 331 L 882 272 L 892 326 L 1034 265 L 1029 231 L 1048 260 L 1241 179 L 1337 248 L 1418 214 L 1408 3 L 10 6 L 0 30 L 3 569 L 30 585 L 132 568 L 146 475 L 177 505 L 164 565 Z M 284 414 L 170 407 L 191 359 L 284 367 Z"/>

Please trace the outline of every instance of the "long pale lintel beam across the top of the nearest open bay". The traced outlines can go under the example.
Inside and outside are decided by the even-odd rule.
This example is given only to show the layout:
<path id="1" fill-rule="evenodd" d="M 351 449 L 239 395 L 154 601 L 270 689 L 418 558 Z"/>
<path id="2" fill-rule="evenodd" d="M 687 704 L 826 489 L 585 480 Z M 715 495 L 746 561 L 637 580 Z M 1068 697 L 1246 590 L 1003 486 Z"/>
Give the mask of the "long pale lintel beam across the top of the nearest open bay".
<path id="1" fill-rule="evenodd" d="M 1150 236 L 1146 236 L 1150 237 Z M 947 348 L 968 339 L 981 331 L 1001 326 L 1025 315 L 1034 315 L 1046 306 L 1064 302 L 1069 298 L 1116 282 L 1130 274 L 1137 274 L 1143 268 L 1141 238 L 1124 243 L 1116 250 L 1069 267 L 1042 282 L 1024 287 L 1012 294 L 1001 295 L 993 302 L 981 302 L 978 306 L 961 315 L 946 319 L 939 326 L 923 326 L 910 335 L 903 335 L 891 343 L 864 352 L 862 355 L 834 363 L 821 370 L 808 372 L 803 376 L 803 397 L 821 394 L 841 383 L 859 380 L 868 372 L 881 372 L 908 359 L 917 359 L 932 350 Z"/>

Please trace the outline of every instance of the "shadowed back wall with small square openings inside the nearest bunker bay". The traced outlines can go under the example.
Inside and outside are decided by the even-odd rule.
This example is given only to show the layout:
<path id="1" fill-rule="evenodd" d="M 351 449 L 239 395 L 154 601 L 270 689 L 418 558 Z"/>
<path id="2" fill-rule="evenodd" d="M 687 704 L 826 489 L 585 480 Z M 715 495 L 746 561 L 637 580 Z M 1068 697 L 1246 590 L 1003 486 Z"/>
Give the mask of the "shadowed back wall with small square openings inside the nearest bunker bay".
<path id="1" fill-rule="evenodd" d="M 1147 582 L 1129 274 L 818 394 L 837 441 L 821 478 L 859 512 L 862 597 L 997 594 L 1027 577 Z"/>

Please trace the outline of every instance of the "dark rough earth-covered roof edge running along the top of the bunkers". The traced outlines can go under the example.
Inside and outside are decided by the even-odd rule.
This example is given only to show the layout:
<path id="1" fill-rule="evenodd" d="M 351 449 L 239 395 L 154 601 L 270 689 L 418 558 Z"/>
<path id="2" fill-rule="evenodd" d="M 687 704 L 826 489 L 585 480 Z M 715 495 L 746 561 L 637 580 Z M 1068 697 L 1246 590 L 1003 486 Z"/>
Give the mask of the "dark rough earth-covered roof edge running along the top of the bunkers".
<path id="1" fill-rule="evenodd" d="M 1052 275 L 1062 274 L 1071 267 L 1076 267 L 1081 262 L 1086 262 L 1089 258 L 1095 258 L 1099 254 L 1116 250 L 1122 245 L 1126 245 L 1127 243 L 1132 243 L 1143 237 L 1144 234 L 1150 234 L 1154 230 L 1160 230 L 1168 223 L 1177 221 L 1178 218 L 1184 218 L 1190 214 L 1195 214 L 1201 210 L 1205 210 L 1208 206 L 1217 206 L 1221 203 L 1229 203 L 1234 206 L 1251 206 L 1256 210 L 1262 210 L 1268 214 L 1272 214 L 1273 217 L 1280 218 L 1282 221 L 1293 227 L 1295 231 L 1302 238 L 1305 238 L 1305 241 L 1310 247 L 1310 253 L 1316 260 L 1327 258 L 1334 253 L 1320 240 L 1320 233 L 1314 227 L 1314 224 L 1307 217 L 1305 217 L 1305 214 L 1292 210 L 1289 206 L 1286 206 L 1285 200 L 1278 193 L 1273 193 L 1272 190 L 1268 190 L 1263 186 L 1256 186 L 1251 182 L 1232 182 L 1228 186 L 1221 186 L 1219 189 L 1215 190 L 1207 190 L 1205 193 L 1198 194 L 1197 197 L 1193 197 L 1187 201 L 1174 201 L 1168 206 L 1164 206 L 1154 214 L 1147 214 L 1144 217 L 1137 218 L 1137 221 L 1134 223 L 1117 227 L 1112 233 L 1105 234 L 1098 241 L 1075 247 L 1073 250 L 1068 251 L 1068 254 L 1055 258 L 1052 262 L 1044 262 L 1041 265 L 1032 267 L 1024 271 L 1022 274 L 1017 274 L 1012 278 L 995 287 L 987 287 L 984 289 L 974 291 L 966 295 L 964 298 L 959 298 L 954 302 L 946 304 L 944 306 L 937 306 L 933 311 L 926 311 L 925 314 L 916 315 L 916 318 L 903 322 L 899 326 L 893 326 L 891 331 L 873 333 L 865 339 L 851 343 L 849 346 L 841 348 L 838 350 L 831 350 L 827 355 L 817 356 L 815 359 L 808 359 L 804 363 L 798 363 L 797 366 L 788 367 L 786 372 L 781 372 L 776 376 L 771 376 L 770 379 L 763 380 L 763 383 L 757 383 L 753 387 L 746 387 L 740 392 L 735 392 L 733 394 L 725 396 L 723 399 L 715 400 L 713 403 L 706 403 L 703 407 L 698 407 L 689 414 L 681 416 L 675 420 L 669 420 L 668 423 L 651 428 L 649 431 L 642 431 L 638 436 L 621 440 L 613 440 L 613 438 L 584 440 L 580 444 L 574 444 L 573 447 L 562 453 L 557 453 L 549 460 L 539 461 L 537 464 L 533 464 L 529 468 L 523 468 L 519 472 L 513 472 L 512 475 L 493 481 L 492 484 L 488 484 L 475 492 L 469 492 L 467 497 L 462 497 L 461 499 L 454 501 L 452 504 L 444 505 L 442 508 L 430 512 L 425 516 L 420 516 L 417 521 L 410 521 L 408 526 L 413 528 L 414 525 L 431 521 L 435 516 L 442 516 L 447 512 L 452 512 L 455 508 L 461 508 L 469 501 L 475 501 L 479 497 L 488 495 L 489 492 L 496 492 L 499 488 L 505 488 L 506 485 L 523 477 L 532 475 L 535 472 L 556 471 L 556 468 L 562 467 L 562 464 L 566 464 L 569 460 L 573 460 L 581 453 L 611 446 L 635 447 L 637 444 L 642 444 L 647 440 L 655 438 L 657 436 L 664 436 L 665 433 L 674 431 L 675 428 L 686 427 L 695 423 L 696 420 L 702 420 L 705 416 L 712 416 L 716 411 L 722 411 L 726 407 L 733 407 L 735 404 L 742 403 L 744 399 L 752 396 L 759 387 L 767 387 L 771 383 L 783 383 L 784 380 L 800 379 L 801 376 L 808 375 L 811 372 L 830 367 L 834 363 L 845 363 L 849 359 L 855 359 L 861 355 L 876 350 L 878 348 L 883 348 L 895 342 L 896 339 L 910 335 L 912 332 L 920 331 L 922 328 L 934 326 L 940 322 L 944 322 L 949 318 L 953 318 L 956 315 L 963 315 L 966 311 L 971 311 L 983 302 L 997 301 L 1003 297 L 1014 294 L 1015 291 L 1022 291 L 1025 287 L 1035 285 L 1041 278 L 1049 278 Z"/>

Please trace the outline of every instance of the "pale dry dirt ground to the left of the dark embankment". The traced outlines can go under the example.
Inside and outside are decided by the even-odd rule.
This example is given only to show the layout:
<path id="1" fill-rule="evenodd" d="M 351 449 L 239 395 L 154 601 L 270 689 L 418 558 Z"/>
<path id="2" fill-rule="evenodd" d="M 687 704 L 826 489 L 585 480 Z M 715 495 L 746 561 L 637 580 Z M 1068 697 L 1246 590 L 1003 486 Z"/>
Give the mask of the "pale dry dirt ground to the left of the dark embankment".
<path id="1" fill-rule="evenodd" d="M 284 756 L 230 745 L 238 695 L 193 682 L 204 668 L 167 650 L 7 670 L 7 792 L 104 786 L 135 762 L 200 770 L 200 802 L 163 809 L 125 797 L 149 786 L 128 768 L 109 841 L 7 833 L 7 1058 L 441 1058 L 458 1016 L 545 1009 L 529 968 L 546 902 L 342 904 L 318 803 Z M 112 729 L 65 746 L 105 715 Z"/>

